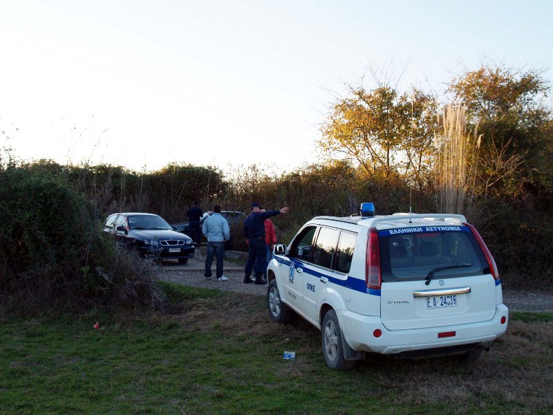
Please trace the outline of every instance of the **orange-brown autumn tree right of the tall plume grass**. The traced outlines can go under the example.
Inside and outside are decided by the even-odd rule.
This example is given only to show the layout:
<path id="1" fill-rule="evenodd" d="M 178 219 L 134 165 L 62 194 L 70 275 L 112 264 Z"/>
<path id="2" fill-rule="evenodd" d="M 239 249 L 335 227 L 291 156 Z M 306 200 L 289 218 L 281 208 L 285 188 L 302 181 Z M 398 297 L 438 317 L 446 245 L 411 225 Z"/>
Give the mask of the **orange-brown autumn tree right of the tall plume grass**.
<path id="1" fill-rule="evenodd" d="M 544 100 L 550 86 L 541 73 L 482 66 L 455 77 L 449 91 L 467 107 L 468 128 L 482 135 L 482 192 L 521 196 L 551 185 L 552 111 Z"/>

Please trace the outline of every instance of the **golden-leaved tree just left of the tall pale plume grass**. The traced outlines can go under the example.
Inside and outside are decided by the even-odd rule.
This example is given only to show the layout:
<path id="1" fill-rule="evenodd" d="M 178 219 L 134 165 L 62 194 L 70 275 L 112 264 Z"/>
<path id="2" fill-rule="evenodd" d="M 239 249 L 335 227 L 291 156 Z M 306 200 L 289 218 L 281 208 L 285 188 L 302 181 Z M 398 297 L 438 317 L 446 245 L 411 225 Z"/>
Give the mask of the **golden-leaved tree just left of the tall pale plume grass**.
<path id="1" fill-rule="evenodd" d="M 349 88 L 321 124 L 319 148 L 355 162 L 369 176 L 427 173 L 436 100 L 419 89 L 401 93 L 389 84 Z"/>

